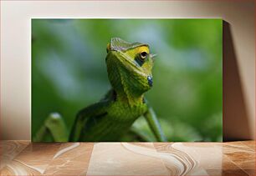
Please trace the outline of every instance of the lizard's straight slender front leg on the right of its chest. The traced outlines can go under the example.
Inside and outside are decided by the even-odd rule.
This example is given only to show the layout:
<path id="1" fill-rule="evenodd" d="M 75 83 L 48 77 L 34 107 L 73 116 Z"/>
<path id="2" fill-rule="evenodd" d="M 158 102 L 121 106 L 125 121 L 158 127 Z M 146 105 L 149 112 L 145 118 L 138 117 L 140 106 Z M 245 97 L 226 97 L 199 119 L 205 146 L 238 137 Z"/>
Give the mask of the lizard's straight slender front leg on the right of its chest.
<path id="1" fill-rule="evenodd" d="M 156 140 L 159 142 L 166 142 L 166 137 L 162 132 L 160 123 L 158 122 L 156 118 L 156 113 L 153 111 L 153 109 L 148 108 L 148 110 L 144 114 L 144 117 L 146 118 L 146 122 L 149 124 L 152 132 L 155 134 Z"/>

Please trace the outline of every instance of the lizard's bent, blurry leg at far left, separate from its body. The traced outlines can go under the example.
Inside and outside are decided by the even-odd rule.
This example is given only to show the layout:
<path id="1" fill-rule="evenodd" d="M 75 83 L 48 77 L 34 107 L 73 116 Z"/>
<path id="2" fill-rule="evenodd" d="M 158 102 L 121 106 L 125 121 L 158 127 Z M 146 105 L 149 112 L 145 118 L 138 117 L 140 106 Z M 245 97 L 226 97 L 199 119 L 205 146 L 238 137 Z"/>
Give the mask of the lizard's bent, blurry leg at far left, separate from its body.
<path id="1" fill-rule="evenodd" d="M 42 142 L 44 138 L 53 138 L 54 142 L 67 142 L 68 133 L 63 118 L 59 113 L 50 113 L 44 125 L 33 137 L 33 142 Z"/>

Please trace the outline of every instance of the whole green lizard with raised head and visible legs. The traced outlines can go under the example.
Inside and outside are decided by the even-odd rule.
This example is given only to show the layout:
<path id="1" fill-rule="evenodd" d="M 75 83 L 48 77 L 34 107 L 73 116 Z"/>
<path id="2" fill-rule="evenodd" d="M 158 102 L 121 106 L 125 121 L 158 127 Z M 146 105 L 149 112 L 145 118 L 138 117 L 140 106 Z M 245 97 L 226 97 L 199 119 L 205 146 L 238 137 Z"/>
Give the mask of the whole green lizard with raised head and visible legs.
<path id="1" fill-rule="evenodd" d="M 145 43 L 111 38 L 105 63 L 112 88 L 105 98 L 79 111 L 70 134 L 59 113 L 51 113 L 33 141 L 42 141 L 46 135 L 55 142 L 119 141 L 142 115 L 156 140 L 166 141 L 153 109 L 144 98 L 153 83 L 153 57 Z"/>

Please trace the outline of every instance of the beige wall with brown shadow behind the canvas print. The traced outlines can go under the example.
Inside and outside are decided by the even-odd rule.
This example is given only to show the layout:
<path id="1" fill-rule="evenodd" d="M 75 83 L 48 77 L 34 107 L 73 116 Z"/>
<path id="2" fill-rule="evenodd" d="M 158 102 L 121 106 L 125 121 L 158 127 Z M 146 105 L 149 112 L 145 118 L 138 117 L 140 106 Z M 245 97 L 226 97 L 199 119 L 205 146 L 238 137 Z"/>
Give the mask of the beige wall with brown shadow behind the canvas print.
<path id="1" fill-rule="evenodd" d="M 231 56 L 237 72 L 229 69 L 230 78 L 224 93 L 241 83 L 241 98 L 236 91 L 228 97 L 233 102 L 224 117 L 228 138 L 253 138 L 255 130 L 255 27 L 253 1 L 1 1 L 1 134 L 3 139 L 30 139 L 31 18 L 223 18 L 229 23 L 233 44 Z M 227 44 L 229 46 L 229 44 Z M 229 61 L 225 67 L 229 67 Z M 236 67 L 234 67 L 236 68 Z M 225 84 L 225 83 L 224 83 Z M 228 88 L 228 89 L 227 89 Z M 226 91 L 226 92 L 225 92 Z M 231 91 L 232 92 L 232 91 Z M 240 96 L 240 97 L 241 97 Z M 224 104 L 225 109 L 225 104 Z M 237 113 L 238 112 L 238 113 Z M 243 128 L 241 128 L 243 127 Z"/>

